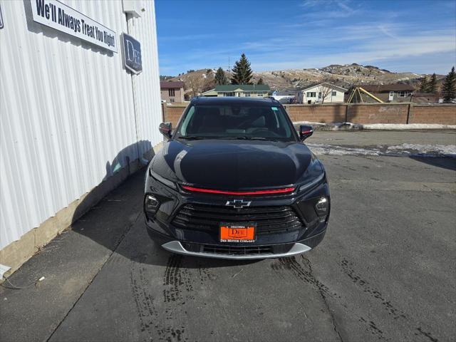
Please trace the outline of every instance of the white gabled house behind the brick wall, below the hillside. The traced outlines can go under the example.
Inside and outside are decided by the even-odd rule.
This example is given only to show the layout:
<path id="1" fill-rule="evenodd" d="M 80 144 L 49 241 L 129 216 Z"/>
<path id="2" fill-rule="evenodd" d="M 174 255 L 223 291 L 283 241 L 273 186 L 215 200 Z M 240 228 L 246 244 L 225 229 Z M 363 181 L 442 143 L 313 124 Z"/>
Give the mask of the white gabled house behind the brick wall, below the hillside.
<path id="1" fill-rule="evenodd" d="M 343 103 L 343 96 L 348 91 L 346 88 L 335 86 L 332 83 L 317 83 L 298 93 L 298 102 L 307 105 L 316 103 Z"/>

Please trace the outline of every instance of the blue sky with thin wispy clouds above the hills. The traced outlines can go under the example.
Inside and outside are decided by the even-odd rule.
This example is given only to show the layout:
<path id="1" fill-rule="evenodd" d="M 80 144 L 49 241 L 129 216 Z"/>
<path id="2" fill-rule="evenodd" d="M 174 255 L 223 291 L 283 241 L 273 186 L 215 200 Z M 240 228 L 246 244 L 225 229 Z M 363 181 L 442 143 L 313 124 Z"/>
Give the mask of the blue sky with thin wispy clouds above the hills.
<path id="1" fill-rule="evenodd" d="M 370 64 L 446 74 L 456 64 L 456 1 L 155 0 L 160 74 Z"/>

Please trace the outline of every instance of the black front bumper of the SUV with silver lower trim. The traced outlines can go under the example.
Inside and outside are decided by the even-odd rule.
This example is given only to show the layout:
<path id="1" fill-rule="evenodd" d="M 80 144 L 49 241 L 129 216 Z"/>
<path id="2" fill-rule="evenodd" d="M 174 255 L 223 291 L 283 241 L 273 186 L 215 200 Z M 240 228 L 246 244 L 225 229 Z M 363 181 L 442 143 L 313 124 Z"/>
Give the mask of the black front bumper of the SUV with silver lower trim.
<path id="1" fill-rule="evenodd" d="M 229 212 L 230 215 L 234 214 L 234 221 L 222 219 L 227 214 L 227 200 L 235 199 L 232 196 L 183 193 L 170 189 L 153 177 L 146 177 L 145 194 L 153 195 L 160 201 L 160 207 L 153 217 L 147 217 L 146 214 L 147 232 L 160 246 L 177 254 L 221 259 L 289 257 L 314 248 L 323 239 L 328 225 L 329 210 L 327 216 L 322 219 L 314 209 L 316 201 L 322 196 L 330 199 L 326 179 L 306 192 L 284 196 L 248 197 L 249 201 L 252 201 L 249 208 L 252 208 L 253 212 Z M 290 224 L 276 227 L 263 217 L 263 225 L 258 227 L 254 243 L 221 243 L 218 226 L 216 227 L 214 222 L 209 222 L 212 225 L 206 227 L 199 226 L 200 222 L 182 222 L 188 219 L 185 215 L 182 217 L 182 212 L 187 212 L 188 215 L 189 211 L 199 210 L 198 208 L 211 211 L 208 212 L 208 218 L 202 217 L 201 212 L 198 212 L 197 221 L 207 221 L 212 217 L 212 221 L 215 220 L 218 224 L 242 222 L 244 217 L 256 215 L 258 211 L 264 214 L 265 208 L 267 214 L 275 216 L 281 214 L 274 212 L 279 207 L 289 208 L 284 211 Z M 216 211 L 212 212 L 212 208 Z M 301 224 L 296 224 L 296 221 Z M 252 222 L 256 220 L 252 219 Z"/>

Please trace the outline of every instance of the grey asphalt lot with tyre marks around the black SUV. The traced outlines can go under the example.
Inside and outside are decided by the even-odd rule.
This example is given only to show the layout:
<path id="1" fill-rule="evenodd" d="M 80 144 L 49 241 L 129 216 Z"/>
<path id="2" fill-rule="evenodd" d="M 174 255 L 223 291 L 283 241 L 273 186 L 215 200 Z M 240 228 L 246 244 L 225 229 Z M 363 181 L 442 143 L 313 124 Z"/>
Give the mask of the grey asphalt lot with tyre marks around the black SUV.
<path id="1" fill-rule="evenodd" d="M 0 288 L 0 340 L 455 341 L 456 159 L 375 152 L 403 143 L 456 134 L 316 132 L 316 149 L 358 150 L 318 150 L 329 230 L 282 259 L 169 254 L 145 232 L 137 172 L 10 277 L 21 289 Z"/>

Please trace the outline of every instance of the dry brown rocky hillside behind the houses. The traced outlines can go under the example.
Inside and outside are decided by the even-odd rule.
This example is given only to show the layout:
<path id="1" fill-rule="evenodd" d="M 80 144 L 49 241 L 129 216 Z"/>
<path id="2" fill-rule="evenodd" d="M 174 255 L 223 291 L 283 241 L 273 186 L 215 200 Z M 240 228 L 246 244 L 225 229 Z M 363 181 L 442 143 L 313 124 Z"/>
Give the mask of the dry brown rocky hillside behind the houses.
<path id="1" fill-rule="evenodd" d="M 184 81 L 187 84 L 190 78 L 201 78 L 202 88 L 206 90 L 212 87 L 210 81 L 214 74 L 215 70 L 213 69 L 201 69 L 170 78 L 170 81 Z M 229 71 L 227 71 L 227 76 L 230 76 Z M 390 83 L 408 83 L 418 88 L 420 78 L 423 76 L 423 74 L 418 73 L 393 73 L 375 66 L 361 66 L 356 63 L 349 65 L 333 64 L 324 68 L 254 72 L 255 81 L 261 77 L 264 83 L 274 90 L 305 88 L 311 83 L 321 81 L 328 81 L 344 88 L 350 88 L 354 84 Z M 437 79 L 443 77 L 445 76 L 437 75 Z"/>

